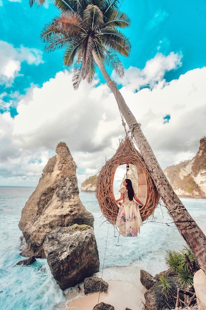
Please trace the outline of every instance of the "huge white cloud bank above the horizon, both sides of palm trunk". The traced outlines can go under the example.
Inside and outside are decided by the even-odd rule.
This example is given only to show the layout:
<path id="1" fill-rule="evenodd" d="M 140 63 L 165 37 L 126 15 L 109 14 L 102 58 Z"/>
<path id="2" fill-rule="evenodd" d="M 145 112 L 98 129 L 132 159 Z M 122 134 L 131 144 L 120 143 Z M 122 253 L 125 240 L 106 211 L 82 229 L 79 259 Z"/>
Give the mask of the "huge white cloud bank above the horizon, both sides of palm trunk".
<path id="1" fill-rule="evenodd" d="M 129 68 L 121 89 L 163 169 L 192 158 L 206 136 L 206 68 L 165 83 L 164 71 L 179 64 L 177 55 L 167 57 L 154 58 L 156 63 L 151 60 L 142 71 Z M 1 185 L 14 180 L 37 184 L 60 141 L 67 143 L 77 163 L 80 184 L 114 155 L 125 134 L 114 96 L 106 84 L 97 86 L 98 81 L 83 81 L 74 91 L 71 80 L 71 73 L 59 72 L 22 97 L 14 119 L 0 114 Z M 155 87 L 135 92 L 145 81 Z M 166 124 L 165 115 L 170 115 Z"/>

